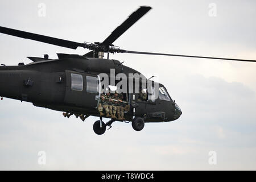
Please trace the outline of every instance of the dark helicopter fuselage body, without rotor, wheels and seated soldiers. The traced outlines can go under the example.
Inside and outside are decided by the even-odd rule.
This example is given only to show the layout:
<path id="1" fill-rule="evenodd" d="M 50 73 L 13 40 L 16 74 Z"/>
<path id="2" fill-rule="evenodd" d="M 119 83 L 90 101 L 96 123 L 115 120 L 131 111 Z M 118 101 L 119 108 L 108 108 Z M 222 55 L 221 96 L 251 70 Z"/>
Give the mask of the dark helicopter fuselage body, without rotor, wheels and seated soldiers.
<path id="1" fill-rule="evenodd" d="M 31 102 L 35 106 L 65 111 L 75 114 L 86 114 L 98 117 L 99 92 L 88 90 L 88 78 L 99 78 L 100 73 L 110 75 L 138 73 L 122 65 L 118 60 L 86 58 L 77 55 L 59 54 L 59 59 L 39 60 L 19 66 L 0 67 L 0 96 L 15 100 Z M 72 89 L 72 75 L 80 75 L 81 90 Z M 99 80 L 100 81 L 100 80 Z M 162 84 L 160 87 L 164 88 Z M 164 88 L 165 89 L 165 88 Z M 139 101 L 138 93 L 127 93 L 125 99 L 130 110 L 125 114 L 126 121 L 135 116 L 143 117 L 145 122 L 174 121 L 181 115 L 179 106 L 170 99 Z"/>

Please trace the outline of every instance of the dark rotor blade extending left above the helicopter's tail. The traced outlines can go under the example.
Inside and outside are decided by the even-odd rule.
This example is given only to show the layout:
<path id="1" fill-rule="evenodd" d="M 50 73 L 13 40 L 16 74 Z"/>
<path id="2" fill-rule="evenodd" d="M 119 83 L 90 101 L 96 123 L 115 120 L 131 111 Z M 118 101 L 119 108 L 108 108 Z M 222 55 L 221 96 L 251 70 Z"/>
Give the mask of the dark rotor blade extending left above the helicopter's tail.
<path id="1" fill-rule="evenodd" d="M 50 36 L 33 34 L 30 32 L 15 30 L 15 29 L 1 27 L 1 26 L 0 26 L 0 32 L 3 34 L 18 36 L 19 38 L 36 40 L 39 42 L 53 44 L 55 46 L 67 47 L 67 48 L 71 48 L 71 49 L 76 49 L 77 47 L 84 47 L 83 43 L 77 43 L 77 42 L 72 42 L 69 40 L 52 38 Z"/>

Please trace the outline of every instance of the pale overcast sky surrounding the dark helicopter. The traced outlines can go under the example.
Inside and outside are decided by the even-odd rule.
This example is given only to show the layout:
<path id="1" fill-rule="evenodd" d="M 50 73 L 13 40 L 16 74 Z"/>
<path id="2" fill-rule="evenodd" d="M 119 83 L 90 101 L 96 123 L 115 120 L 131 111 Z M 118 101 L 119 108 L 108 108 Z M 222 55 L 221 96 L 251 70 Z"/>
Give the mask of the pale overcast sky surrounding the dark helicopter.
<path id="1" fill-rule="evenodd" d="M 46 16 L 39 16 L 39 3 Z M 216 16 L 209 16 L 210 3 Z M 115 45 L 128 50 L 256 59 L 255 1 L 1 1 L 0 26 L 73 40 L 101 42 L 141 5 L 152 7 Z M 210 6 L 212 7 L 212 6 Z M 212 11 L 211 11 L 212 12 Z M 87 51 L 0 34 L 0 63 L 26 56 Z M 223 170 L 256 169 L 256 63 L 110 55 L 166 86 L 183 114 L 146 123 L 140 132 L 116 122 L 94 134 L 59 111 L 4 98 L 0 101 L 0 169 Z M 11 89 L 11 88 L 10 88 Z M 104 120 L 107 121 L 106 119 Z M 38 152 L 46 152 L 46 165 Z M 209 151 L 217 164 L 210 165 Z"/>

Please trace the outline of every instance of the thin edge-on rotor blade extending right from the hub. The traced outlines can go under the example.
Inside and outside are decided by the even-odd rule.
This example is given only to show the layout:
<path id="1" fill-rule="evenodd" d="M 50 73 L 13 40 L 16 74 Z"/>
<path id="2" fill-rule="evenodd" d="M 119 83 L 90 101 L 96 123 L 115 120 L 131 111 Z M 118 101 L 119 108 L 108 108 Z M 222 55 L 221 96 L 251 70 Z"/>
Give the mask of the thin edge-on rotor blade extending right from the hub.
<path id="1" fill-rule="evenodd" d="M 196 57 L 196 58 L 205 58 L 205 59 L 220 59 L 220 60 L 230 60 L 230 61 L 249 61 L 256 62 L 256 60 L 247 60 L 247 59 L 230 59 L 230 58 L 222 58 L 222 57 L 205 57 L 205 56 L 189 56 L 189 55 L 173 55 L 168 53 L 155 53 L 155 52 L 138 52 L 138 51 L 126 51 L 122 50 L 125 53 L 138 53 L 142 55 L 160 55 L 160 56 L 178 56 L 178 57 Z"/>

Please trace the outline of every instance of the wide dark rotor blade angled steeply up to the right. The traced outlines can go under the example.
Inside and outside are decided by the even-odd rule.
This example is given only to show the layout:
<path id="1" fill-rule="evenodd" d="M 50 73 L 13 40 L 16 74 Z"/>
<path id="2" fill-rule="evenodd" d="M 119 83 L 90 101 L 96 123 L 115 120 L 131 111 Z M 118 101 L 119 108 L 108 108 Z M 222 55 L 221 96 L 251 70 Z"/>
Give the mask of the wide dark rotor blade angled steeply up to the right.
<path id="1" fill-rule="evenodd" d="M 150 6 L 141 6 L 138 10 L 134 11 L 133 14 L 129 16 L 119 27 L 115 30 L 101 43 L 103 46 L 110 46 L 115 40 L 119 38 L 126 30 L 128 30 L 135 22 L 137 22 L 144 14 L 151 9 Z"/>

